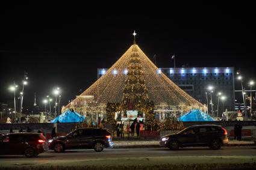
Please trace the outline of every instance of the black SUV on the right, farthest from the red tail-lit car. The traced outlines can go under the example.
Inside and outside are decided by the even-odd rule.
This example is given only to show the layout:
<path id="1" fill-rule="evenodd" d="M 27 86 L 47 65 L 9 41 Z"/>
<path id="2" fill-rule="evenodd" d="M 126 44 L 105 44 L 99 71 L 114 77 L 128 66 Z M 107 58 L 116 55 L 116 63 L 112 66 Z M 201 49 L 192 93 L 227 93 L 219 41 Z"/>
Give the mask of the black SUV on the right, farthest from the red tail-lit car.
<path id="1" fill-rule="evenodd" d="M 196 125 L 187 127 L 178 133 L 161 137 L 160 145 L 178 150 L 180 147 L 208 146 L 219 150 L 223 144 L 228 143 L 228 133 L 217 125 Z"/>

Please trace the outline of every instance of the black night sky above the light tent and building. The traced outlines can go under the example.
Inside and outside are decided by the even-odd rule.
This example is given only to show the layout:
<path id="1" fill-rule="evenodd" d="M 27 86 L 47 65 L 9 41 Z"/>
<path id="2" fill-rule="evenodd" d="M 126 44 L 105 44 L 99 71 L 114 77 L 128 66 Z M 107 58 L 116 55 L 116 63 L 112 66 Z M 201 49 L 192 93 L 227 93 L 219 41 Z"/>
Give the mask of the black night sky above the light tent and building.
<path id="1" fill-rule="evenodd" d="M 44 106 L 55 87 L 66 105 L 95 82 L 97 68 L 109 68 L 123 55 L 134 29 L 143 52 L 152 61 L 157 55 L 157 67 L 173 67 L 175 53 L 176 67 L 235 67 L 245 82 L 256 78 L 252 4 L 42 2 L 0 4 L 0 103 L 13 101 L 8 87 L 27 71 L 25 108 L 33 106 L 35 92 Z"/>

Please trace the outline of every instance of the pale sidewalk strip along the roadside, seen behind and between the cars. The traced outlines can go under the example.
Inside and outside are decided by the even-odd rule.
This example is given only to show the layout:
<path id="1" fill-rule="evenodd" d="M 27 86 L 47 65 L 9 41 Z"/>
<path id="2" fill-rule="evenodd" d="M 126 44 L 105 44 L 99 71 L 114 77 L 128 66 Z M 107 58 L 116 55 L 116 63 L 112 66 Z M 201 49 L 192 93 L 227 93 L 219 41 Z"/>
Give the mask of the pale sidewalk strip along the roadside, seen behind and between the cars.
<path id="1" fill-rule="evenodd" d="M 113 141 L 114 147 L 113 148 L 160 148 L 159 141 L 154 140 L 118 140 Z M 229 140 L 228 144 L 225 147 L 239 147 L 239 146 L 255 146 L 254 141 L 236 141 L 236 140 Z"/>

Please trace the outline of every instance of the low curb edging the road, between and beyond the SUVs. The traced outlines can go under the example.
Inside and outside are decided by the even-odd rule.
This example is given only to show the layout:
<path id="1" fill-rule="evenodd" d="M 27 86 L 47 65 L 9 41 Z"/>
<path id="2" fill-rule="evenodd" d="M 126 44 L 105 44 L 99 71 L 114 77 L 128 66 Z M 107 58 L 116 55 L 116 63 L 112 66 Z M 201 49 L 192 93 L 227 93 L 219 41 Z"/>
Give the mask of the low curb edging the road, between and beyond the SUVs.
<path id="1" fill-rule="evenodd" d="M 255 144 L 226 144 L 223 147 L 249 147 L 256 146 Z M 160 145 L 114 145 L 113 148 L 163 148 Z"/>

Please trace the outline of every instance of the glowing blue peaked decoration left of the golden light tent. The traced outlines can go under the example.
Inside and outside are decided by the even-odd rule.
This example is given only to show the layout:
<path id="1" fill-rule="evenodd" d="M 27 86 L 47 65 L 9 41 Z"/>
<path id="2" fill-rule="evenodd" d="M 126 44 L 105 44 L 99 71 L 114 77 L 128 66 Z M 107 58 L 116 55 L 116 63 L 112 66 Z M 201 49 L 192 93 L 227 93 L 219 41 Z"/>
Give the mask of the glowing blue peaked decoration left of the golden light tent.
<path id="1" fill-rule="evenodd" d="M 67 110 L 63 114 L 56 117 L 51 123 L 74 123 L 83 122 L 86 119 L 83 115 L 78 114 L 76 111 Z"/>

